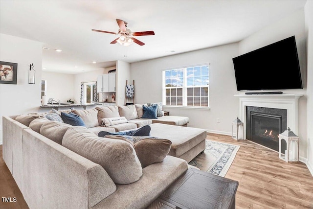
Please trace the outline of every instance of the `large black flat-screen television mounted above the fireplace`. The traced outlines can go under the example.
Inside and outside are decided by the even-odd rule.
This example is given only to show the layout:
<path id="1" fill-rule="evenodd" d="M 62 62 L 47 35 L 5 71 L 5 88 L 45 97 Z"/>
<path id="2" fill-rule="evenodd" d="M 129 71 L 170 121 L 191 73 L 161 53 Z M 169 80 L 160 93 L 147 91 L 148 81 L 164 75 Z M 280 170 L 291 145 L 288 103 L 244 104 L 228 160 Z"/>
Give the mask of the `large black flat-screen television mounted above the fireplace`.
<path id="1" fill-rule="evenodd" d="M 237 90 L 302 89 L 295 37 L 233 58 Z"/>

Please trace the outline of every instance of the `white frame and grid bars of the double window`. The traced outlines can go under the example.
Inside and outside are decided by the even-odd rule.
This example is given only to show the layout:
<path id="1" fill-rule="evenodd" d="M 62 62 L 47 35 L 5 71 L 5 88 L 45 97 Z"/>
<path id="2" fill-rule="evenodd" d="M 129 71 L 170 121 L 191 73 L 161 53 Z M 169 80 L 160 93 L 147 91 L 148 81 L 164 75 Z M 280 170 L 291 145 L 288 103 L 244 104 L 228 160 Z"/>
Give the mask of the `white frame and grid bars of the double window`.
<path id="1" fill-rule="evenodd" d="M 187 86 L 187 69 L 188 68 L 195 68 L 195 67 L 201 67 L 202 66 L 208 66 L 208 85 L 198 85 L 198 86 Z M 166 104 L 166 90 L 167 89 L 178 89 L 180 88 L 179 86 L 176 87 L 166 87 L 166 71 L 169 70 L 183 70 L 183 86 L 182 88 L 182 105 L 167 105 Z M 187 96 L 187 89 L 188 88 L 206 88 L 207 87 L 207 106 L 191 106 L 187 105 L 187 98 L 190 96 Z M 194 90 L 193 90 L 194 91 Z M 177 96 L 176 96 L 177 97 Z M 193 98 L 198 97 L 198 96 L 192 96 Z M 206 96 L 200 96 L 199 97 L 206 97 Z M 197 65 L 191 65 L 191 66 L 185 66 L 185 67 L 178 67 L 178 68 L 171 68 L 171 69 L 165 69 L 162 70 L 162 103 L 164 107 L 169 107 L 169 108 L 182 108 L 182 109 L 210 109 L 210 63 L 204 63 L 204 64 L 197 64 Z M 201 104 L 201 103 L 200 103 Z"/>

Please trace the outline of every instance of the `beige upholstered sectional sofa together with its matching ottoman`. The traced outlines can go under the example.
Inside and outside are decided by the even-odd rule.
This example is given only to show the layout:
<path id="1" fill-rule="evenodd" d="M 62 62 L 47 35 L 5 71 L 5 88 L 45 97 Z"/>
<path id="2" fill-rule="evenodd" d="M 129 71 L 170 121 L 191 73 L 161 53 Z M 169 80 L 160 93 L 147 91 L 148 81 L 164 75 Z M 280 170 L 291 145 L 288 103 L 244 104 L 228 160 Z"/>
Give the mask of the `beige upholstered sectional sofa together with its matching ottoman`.
<path id="1" fill-rule="evenodd" d="M 186 172 L 187 162 L 205 148 L 205 130 L 139 119 L 135 107 L 72 110 L 85 127 L 43 114 L 3 116 L 3 160 L 29 208 L 146 208 Z M 102 127 L 103 116 L 114 117 L 116 110 L 128 122 Z M 141 140 L 141 151 L 138 142 L 97 136 L 146 124 L 158 139 Z M 156 143 L 164 149 L 156 151 Z M 156 153 L 161 158 L 143 166 Z"/>

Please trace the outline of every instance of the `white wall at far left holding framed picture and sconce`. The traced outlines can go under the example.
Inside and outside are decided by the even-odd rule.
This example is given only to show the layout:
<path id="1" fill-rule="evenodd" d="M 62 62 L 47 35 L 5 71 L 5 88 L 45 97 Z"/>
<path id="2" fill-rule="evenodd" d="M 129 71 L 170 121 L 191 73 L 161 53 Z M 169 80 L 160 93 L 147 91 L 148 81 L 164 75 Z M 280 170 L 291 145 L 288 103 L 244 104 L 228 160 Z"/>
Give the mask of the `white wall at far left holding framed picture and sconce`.
<path id="1" fill-rule="evenodd" d="M 0 144 L 2 144 L 2 116 L 39 110 L 42 46 L 40 42 L 0 34 L 0 61 L 18 64 L 17 84 L 0 84 Z M 36 83 L 28 84 L 28 70 L 32 63 L 36 70 Z"/>

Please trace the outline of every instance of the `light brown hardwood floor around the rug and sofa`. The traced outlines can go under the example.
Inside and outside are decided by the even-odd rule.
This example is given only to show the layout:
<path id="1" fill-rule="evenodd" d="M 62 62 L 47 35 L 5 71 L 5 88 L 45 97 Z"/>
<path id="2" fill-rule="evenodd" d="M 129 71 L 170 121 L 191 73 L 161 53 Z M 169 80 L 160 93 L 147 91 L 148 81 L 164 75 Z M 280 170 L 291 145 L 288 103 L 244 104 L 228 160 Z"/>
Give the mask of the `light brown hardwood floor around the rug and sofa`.
<path id="1" fill-rule="evenodd" d="M 304 163 L 285 163 L 278 153 L 248 140 L 208 134 L 207 139 L 240 145 L 226 178 L 239 182 L 236 209 L 313 209 L 313 177 Z M 28 209 L 22 193 L 2 158 L 0 145 L 0 196 L 16 197 L 0 209 Z"/>

